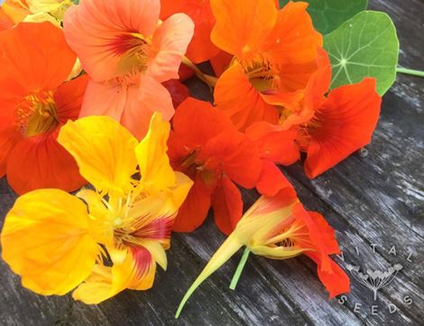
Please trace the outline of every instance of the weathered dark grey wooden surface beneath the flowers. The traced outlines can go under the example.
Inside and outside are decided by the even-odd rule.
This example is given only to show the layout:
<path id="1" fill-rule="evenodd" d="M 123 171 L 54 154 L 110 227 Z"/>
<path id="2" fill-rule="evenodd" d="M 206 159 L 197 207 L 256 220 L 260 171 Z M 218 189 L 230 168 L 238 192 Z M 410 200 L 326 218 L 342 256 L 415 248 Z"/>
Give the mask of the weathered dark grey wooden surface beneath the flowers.
<path id="1" fill-rule="evenodd" d="M 392 16 L 401 40 L 401 65 L 424 70 L 424 2 L 371 0 L 371 8 Z M 199 81 L 188 84 L 192 95 L 210 99 Z M 233 292 L 228 285 L 239 252 L 201 285 L 175 321 L 181 297 L 224 240 L 209 219 L 192 234 L 173 235 L 168 271 L 157 273 L 152 290 L 125 291 L 97 306 L 73 302 L 69 296 L 32 294 L 0 262 L 0 325 L 423 325 L 423 89 L 424 78 L 398 77 L 384 96 L 367 157 L 354 154 L 313 181 L 300 164 L 287 170 L 305 206 L 323 213 L 336 229 L 346 261 L 335 259 L 342 267 L 348 263 L 362 270 L 384 269 L 401 263 L 400 273 L 376 301 L 354 279 L 344 304 L 329 301 L 316 267 L 303 257 L 275 261 L 251 256 Z M 0 194 L 3 220 L 15 200 L 5 178 Z M 244 194 L 246 206 L 256 198 L 252 192 Z M 391 303 L 396 312 L 389 312 Z"/>

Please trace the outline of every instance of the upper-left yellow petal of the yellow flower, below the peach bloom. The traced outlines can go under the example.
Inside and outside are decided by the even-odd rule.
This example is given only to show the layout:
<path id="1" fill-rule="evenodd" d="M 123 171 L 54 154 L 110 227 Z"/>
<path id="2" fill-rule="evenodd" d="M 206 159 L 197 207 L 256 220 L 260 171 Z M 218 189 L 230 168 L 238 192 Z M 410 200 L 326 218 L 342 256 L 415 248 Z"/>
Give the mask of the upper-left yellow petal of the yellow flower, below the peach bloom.
<path id="1" fill-rule="evenodd" d="M 137 140 L 108 116 L 69 121 L 61 128 L 60 144 L 77 160 L 79 172 L 97 191 L 123 194 L 136 172 Z"/>

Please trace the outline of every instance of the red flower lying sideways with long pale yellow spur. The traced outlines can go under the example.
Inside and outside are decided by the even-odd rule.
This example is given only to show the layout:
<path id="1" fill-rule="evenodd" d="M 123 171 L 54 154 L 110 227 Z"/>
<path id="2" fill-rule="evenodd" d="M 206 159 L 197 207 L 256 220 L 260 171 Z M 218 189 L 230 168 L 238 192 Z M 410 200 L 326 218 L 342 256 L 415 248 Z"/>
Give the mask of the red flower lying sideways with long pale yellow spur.
<path id="1" fill-rule="evenodd" d="M 319 280 L 326 286 L 330 298 L 349 292 L 348 276 L 328 256 L 340 252 L 335 231 L 321 214 L 306 211 L 294 190 L 288 187 L 275 196 L 262 196 L 244 213 L 235 231 L 190 286 L 176 317 L 198 285 L 243 246 L 255 255 L 273 259 L 304 254 L 317 263 Z"/>

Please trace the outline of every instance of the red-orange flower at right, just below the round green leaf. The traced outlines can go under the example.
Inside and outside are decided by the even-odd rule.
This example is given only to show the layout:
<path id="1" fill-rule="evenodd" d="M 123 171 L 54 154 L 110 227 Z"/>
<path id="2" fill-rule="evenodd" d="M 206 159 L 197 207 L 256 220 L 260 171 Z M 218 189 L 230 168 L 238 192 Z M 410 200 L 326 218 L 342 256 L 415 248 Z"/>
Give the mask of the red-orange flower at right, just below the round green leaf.
<path id="1" fill-rule="evenodd" d="M 331 81 L 327 52 L 319 50 L 317 62 L 318 69 L 305 89 L 266 96 L 266 101 L 278 113 L 278 122 L 262 122 L 261 127 L 269 130 L 263 131 L 263 137 L 268 138 L 276 130 L 281 130 L 280 137 L 286 137 L 286 140 L 288 132 L 297 132 L 294 142 L 307 153 L 304 167 L 309 178 L 334 167 L 371 141 L 382 104 L 382 98 L 375 90 L 374 78 L 337 87 L 327 95 Z M 253 124 L 252 128 L 257 127 Z M 264 138 L 262 141 L 269 142 Z M 296 152 L 287 145 L 287 141 L 286 144 L 281 143 L 281 147 L 272 144 L 267 147 L 274 158 L 285 158 L 287 153 L 295 155 Z"/>

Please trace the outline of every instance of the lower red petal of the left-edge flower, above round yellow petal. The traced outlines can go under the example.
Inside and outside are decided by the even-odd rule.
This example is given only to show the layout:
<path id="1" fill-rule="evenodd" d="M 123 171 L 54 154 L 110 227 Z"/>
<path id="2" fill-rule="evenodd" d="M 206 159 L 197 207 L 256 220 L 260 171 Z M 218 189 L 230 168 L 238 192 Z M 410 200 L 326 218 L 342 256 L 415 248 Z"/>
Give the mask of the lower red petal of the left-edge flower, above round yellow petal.
<path id="1" fill-rule="evenodd" d="M 75 159 L 60 146 L 59 131 L 25 138 L 9 153 L 7 181 L 17 194 L 38 188 L 70 192 L 87 183 L 79 175 Z"/>

